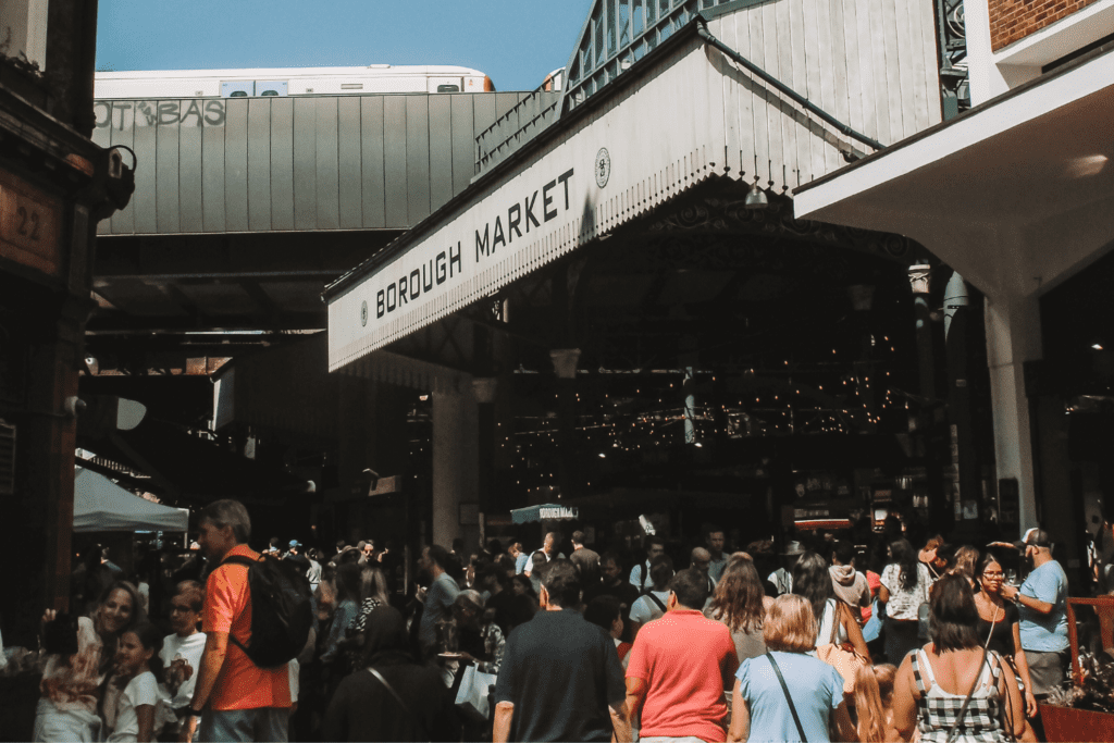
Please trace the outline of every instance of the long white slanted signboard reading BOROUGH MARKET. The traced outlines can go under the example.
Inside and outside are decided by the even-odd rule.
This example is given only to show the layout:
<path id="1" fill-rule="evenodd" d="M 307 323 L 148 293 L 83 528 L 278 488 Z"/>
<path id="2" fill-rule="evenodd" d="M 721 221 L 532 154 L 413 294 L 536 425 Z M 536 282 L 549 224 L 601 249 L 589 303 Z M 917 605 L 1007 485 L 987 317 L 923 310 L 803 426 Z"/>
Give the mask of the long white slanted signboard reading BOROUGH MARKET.
<path id="1" fill-rule="evenodd" d="M 330 371 L 726 174 L 722 91 L 693 42 L 648 71 L 637 96 L 543 134 L 544 146 L 400 238 L 369 275 L 326 290 Z"/>

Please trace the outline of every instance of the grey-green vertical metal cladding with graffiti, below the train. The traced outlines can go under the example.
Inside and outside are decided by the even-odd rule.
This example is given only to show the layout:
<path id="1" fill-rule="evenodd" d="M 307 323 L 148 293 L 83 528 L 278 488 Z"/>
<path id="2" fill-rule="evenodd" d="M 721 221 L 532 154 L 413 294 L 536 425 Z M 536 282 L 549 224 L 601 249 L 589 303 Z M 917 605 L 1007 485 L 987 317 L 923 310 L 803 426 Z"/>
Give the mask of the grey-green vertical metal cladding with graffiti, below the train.
<path id="1" fill-rule="evenodd" d="M 476 136 L 526 92 L 97 100 L 138 159 L 100 235 L 404 229 L 463 190 Z"/>

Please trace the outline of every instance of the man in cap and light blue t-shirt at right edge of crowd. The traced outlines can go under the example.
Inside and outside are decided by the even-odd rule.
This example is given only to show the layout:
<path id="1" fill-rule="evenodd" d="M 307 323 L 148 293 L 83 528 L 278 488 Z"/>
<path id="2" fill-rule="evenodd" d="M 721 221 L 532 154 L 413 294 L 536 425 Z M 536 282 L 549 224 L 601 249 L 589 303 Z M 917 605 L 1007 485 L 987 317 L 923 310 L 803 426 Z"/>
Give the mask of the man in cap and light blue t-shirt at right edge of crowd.
<path id="1" fill-rule="evenodd" d="M 1001 595 L 1017 604 L 1022 648 L 1033 695 L 1039 700 L 1063 685 L 1067 669 L 1067 575 L 1053 559 L 1053 542 L 1044 529 L 1029 529 L 1024 538 L 1005 544 L 1022 550 L 1033 566 L 1020 588 L 1004 585 Z"/>

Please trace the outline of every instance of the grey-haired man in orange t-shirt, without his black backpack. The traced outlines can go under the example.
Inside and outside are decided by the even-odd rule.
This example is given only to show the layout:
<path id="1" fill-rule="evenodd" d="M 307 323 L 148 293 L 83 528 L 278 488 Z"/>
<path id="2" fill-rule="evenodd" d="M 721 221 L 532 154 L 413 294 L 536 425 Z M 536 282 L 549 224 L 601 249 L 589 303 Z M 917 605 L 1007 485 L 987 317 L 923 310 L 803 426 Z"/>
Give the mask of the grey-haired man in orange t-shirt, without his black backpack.
<path id="1" fill-rule="evenodd" d="M 233 555 L 260 557 L 246 544 L 252 536 L 247 509 L 235 500 L 217 500 L 202 511 L 199 528 L 202 550 L 217 567 L 205 583 L 205 651 L 189 713 L 202 718 L 203 741 L 285 742 L 291 706 L 286 666 L 260 668 L 228 642 L 231 635 L 247 645 L 252 636 L 247 566 L 221 565 Z"/>

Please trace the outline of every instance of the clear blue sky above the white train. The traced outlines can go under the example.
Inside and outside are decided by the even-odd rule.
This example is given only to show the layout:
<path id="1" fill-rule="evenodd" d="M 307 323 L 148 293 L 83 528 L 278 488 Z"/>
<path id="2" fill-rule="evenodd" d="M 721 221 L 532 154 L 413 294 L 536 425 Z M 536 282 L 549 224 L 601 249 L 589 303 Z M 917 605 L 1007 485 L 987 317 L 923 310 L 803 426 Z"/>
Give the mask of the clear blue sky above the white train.
<path id="1" fill-rule="evenodd" d="M 461 65 L 499 90 L 564 67 L 592 0 L 100 0 L 97 69 Z"/>

